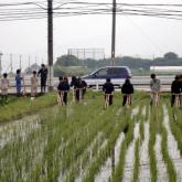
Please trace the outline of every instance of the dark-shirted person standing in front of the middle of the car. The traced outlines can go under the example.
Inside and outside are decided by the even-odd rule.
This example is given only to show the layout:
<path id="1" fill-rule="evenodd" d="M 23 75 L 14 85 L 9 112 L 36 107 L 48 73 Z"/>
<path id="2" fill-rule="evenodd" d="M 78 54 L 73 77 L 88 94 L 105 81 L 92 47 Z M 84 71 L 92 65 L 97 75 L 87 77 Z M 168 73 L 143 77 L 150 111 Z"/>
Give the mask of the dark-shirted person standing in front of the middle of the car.
<path id="1" fill-rule="evenodd" d="M 107 78 L 106 83 L 103 85 L 103 92 L 105 93 L 105 100 L 108 99 L 109 106 L 113 105 L 113 93 L 115 92 L 115 87 L 110 82 L 110 78 Z"/>

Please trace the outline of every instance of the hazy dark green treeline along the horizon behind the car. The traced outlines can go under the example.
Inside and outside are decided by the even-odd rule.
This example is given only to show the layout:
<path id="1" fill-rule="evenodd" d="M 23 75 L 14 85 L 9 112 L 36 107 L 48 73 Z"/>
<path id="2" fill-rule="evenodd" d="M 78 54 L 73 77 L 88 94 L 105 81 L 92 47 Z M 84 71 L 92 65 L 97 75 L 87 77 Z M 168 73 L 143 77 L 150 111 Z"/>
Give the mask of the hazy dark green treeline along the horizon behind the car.
<path id="1" fill-rule="evenodd" d="M 98 67 L 109 66 L 111 63 L 110 58 L 103 60 L 78 60 L 74 55 L 63 55 L 57 57 L 56 63 L 54 65 L 55 76 L 64 75 L 71 73 L 73 75 L 76 71 L 75 75 L 83 75 L 87 72 L 94 71 Z M 178 54 L 173 52 L 168 52 L 163 55 L 163 57 L 156 57 L 153 60 L 150 58 L 141 58 L 141 57 L 132 57 L 132 56 L 122 56 L 116 57 L 115 60 L 116 66 L 129 66 L 131 69 L 143 69 L 149 71 L 150 66 L 181 66 L 182 57 L 179 57 Z M 75 71 L 74 71 L 75 69 Z"/>

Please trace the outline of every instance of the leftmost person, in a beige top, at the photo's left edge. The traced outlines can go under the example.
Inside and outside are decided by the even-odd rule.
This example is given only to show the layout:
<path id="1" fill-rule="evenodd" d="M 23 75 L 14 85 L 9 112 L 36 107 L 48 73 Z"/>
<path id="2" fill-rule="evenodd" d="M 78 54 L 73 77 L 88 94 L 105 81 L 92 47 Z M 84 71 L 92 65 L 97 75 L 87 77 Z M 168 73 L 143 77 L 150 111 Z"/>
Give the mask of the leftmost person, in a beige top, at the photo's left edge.
<path id="1" fill-rule="evenodd" d="M 9 79 L 7 78 L 7 76 L 8 74 L 4 73 L 0 83 L 2 104 L 7 103 L 8 100 Z"/>

